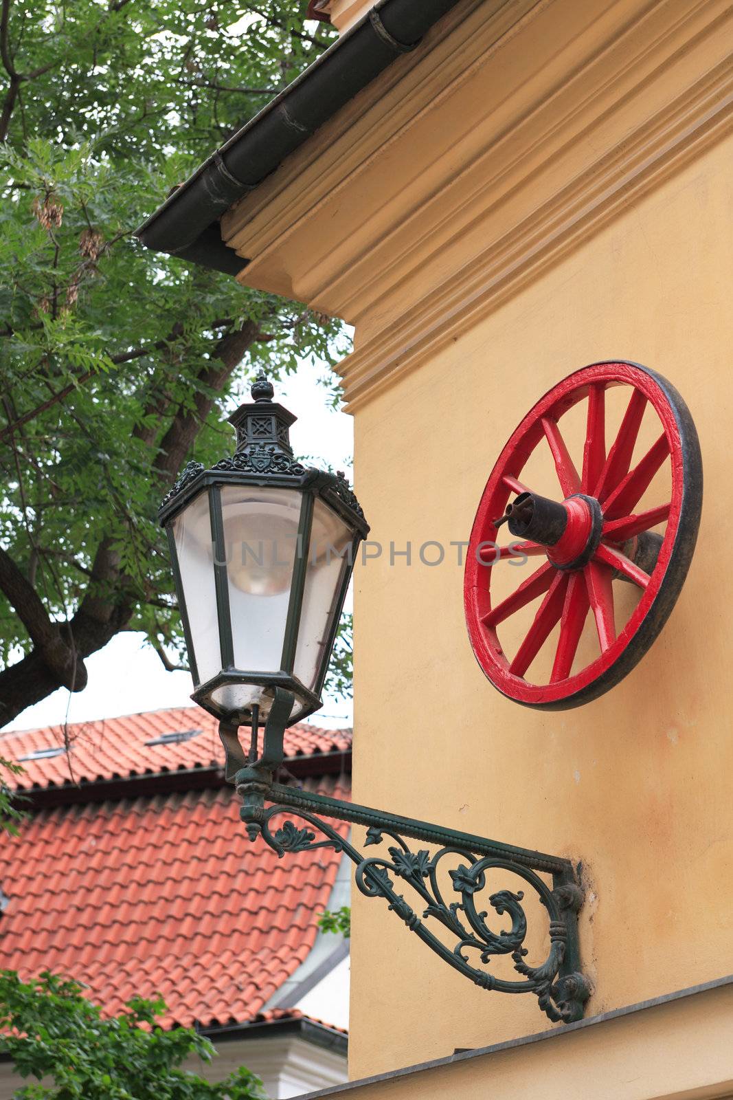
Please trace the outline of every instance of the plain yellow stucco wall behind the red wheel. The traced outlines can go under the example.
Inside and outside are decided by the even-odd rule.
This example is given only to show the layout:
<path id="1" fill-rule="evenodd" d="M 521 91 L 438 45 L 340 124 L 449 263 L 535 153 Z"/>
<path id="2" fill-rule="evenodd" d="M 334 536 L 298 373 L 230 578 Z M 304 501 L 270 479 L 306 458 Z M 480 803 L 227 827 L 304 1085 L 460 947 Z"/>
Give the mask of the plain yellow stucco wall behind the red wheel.
<path id="1" fill-rule="evenodd" d="M 355 416 L 359 499 L 385 552 L 356 575 L 354 798 L 582 860 L 590 1014 L 733 971 L 732 164 L 729 138 Z M 474 659 L 457 551 L 427 568 L 418 550 L 467 539 L 523 414 L 613 356 L 666 375 L 692 411 L 698 549 L 620 686 L 527 711 Z M 409 568 L 390 566 L 390 540 L 412 543 Z M 545 1028 L 533 998 L 476 989 L 385 910 L 355 891 L 352 1077 Z"/>

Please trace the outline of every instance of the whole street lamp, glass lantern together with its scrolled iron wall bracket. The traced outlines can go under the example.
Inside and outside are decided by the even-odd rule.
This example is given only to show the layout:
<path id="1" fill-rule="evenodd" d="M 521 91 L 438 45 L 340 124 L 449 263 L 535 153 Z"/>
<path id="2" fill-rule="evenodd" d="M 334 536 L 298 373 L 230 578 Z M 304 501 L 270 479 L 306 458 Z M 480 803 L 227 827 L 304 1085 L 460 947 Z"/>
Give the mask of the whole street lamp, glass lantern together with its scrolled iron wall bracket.
<path id="1" fill-rule="evenodd" d="M 249 839 L 264 840 L 279 856 L 324 846 L 344 853 L 355 865 L 357 889 L 385 899 L 411 932 L 471 982 L 496 992 L 534 993 L 553 1022 L 580 1020 L 590 993 L 578 944 L 584 895 L 567 857 L 278 781 L 286 726 L 321 705 L 356 550 L 369 528 L 343 474 L 307 469 L 293 459 L 288 431 L 296 418 L 273 400 L 262 373 L 252 396 L 252 404 L 230 417 L 235 454 L 211 470 L 189 462 L 160 505 L 192 697 L 220 718 L 225 777 L 242 798 L 240 816 Z M 242 726 L 251 727 L 247 754 L 240 743 Z M 286 820 L 275 827 L 284 814 L 304 825 Z M 324 818 L 366 826 L 363 846 L 369 854 Z M 409 839 L 427 844 L 434 855 L 427 848 L 413 851 Z M 511 927 L 495 930 L 489 910 L 478 902 L 499 875 L 513 876 L 521 889 L 489 894 L 496 919 L 511 921 Z M 459 901 L 444 898 L 447 882 Z M 402 886 L 412 889 L 421 910 L 425 906 L 422 916 L 406 901 Z M 547 919 L 538 965 L 525 958 L 527 890 Z M 500 955 L 511 958 L 519 978 L 487 969 Z"/>

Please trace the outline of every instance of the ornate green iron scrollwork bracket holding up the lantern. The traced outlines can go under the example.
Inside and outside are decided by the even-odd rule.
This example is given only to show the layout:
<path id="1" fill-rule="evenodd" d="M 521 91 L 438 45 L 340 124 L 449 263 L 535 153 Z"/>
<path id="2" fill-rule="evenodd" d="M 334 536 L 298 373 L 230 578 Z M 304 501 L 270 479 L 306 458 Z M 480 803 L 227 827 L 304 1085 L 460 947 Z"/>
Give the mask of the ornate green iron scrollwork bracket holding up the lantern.
<path id="1" fill-rule="evenodd" d="M 582 890 L 570 860 L 276 783 L 275 772 L 284 760 L 282 737 L 293 698 L 281 689 L 276 689 L 275 696 L 258 758 L 256 715 L 248 760 L 244 758 L 236 728 L 223 723 L 220 727 L 227 757 L 226 777 L 234 781 L 242 798 L 240 816 L 249 839 L 262 837 L 279 856 L 325 847 L 343 851 L 355 865 L 360 892 L 367 898 L 384 898 L 408 928 L 448 966 L 482 989 L 534 993 L 553 1022 L 580 1020 L 590 987 L 580 971 L 577 914 Z M 273 818 L 284 814 L 289 818 L 273 828 Z M 298 827 L 292 817 L 304 822 L 304 826 Z M 384 845 L 384 848 L 374 855 L 363 855 L 323 817 L 366 826 L 364 846 Z M 392 845 L 386 844 L 386 838 Z M 429 848 L 412 850 L 407 839 L 424 842 L 433 849 L 432 855 Z M 488 898 L 498 916 L 510 919 L 508 930 L 490 928 L 488 911 L 479 911 L 477 906 L 489 877 L 496 879 L 491 872 L 508 872 L 523 880 L 524 889 L 533 891 L 544 905 L 549 946 L 544 961 L 537 966 L 526 961 L 524 890 L 499 890 Z M 459 900 L 444 900 L 448 879 Z M 422 905 L 420 915 L 397 892 L 397 880 L 414 891 Z M 433 931 L 437 926 L 442 926 L 442 937 Z M 455 943 L 449 946 L 446 941 Z M 492 955 L 509 955 L 522 980 L 491 974 L 487 967 Z"/>

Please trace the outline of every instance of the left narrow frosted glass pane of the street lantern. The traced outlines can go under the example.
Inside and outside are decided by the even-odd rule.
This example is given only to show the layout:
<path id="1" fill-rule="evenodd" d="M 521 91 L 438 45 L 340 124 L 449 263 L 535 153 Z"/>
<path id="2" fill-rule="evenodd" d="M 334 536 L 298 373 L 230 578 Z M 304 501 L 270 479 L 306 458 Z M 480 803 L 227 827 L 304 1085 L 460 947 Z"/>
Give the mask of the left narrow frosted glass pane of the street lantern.
<path id="1" fill-rule="evenodd" d="M 208 493 L 200 493 L 176 516 L 173 534 L 199 673 L 198 683 L 204 683 L 221 669 Z"/>

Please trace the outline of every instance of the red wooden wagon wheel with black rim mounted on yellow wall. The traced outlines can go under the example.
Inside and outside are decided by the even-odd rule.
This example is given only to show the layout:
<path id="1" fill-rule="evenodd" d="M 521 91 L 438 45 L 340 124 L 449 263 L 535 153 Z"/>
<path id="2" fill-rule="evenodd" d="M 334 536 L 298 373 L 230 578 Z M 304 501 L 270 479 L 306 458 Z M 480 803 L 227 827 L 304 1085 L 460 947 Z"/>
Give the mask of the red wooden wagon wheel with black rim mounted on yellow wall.
<path id="1" fill-rule="evenodd" d="M 628 389 L 629 400 L 607 450 L 606 398 L 615 386 Z M 580 402 L 587 406 L 585 442 L 576 466 L 560 420 Z M 645 416 L 646 422 L 656 416 L 660 433 L 637 457 Z M 554 462 L 559 499 L 541 496 L 522 480 L 527 461 L 532 458 L 536 464 L 535 449 L 540 457 L 544 449 L 547 462 Z M 636 512 L 665 470 L 670 487 L 664 498 Z M 675 605 L 695 550 L 701 505 L 697 431 L 685 402 L 665 378 L 638 363 L 604 362 L 554 386 L 499 455 L 471 531 L 466 620 L 476 658 L 491 683 L 518 703 L 545 710 L 588 703 L 619 683 L 647 651 Z M 504 522 L 515 540 L 499 547 Z M 655 527 L 662 530 L 652 531 Z M 492 601 L 497 571 L 517 561 L 526 565 L 514 570 L 519 583 Z M 640 598 L 618 628 L 621 581 L 636 585 Z M 519 644 L 513 637 L 507 654 L 500 632 L 513 616 L 526 616 L 534 601 L 540 601 L 534 617 L 522 628 Z M 588 639 L 586 623 L 593 619 L 596 638 Z M 543 651 L 546 670 L 535 682 L 532 666 Z"/>

